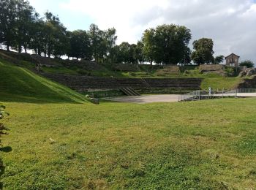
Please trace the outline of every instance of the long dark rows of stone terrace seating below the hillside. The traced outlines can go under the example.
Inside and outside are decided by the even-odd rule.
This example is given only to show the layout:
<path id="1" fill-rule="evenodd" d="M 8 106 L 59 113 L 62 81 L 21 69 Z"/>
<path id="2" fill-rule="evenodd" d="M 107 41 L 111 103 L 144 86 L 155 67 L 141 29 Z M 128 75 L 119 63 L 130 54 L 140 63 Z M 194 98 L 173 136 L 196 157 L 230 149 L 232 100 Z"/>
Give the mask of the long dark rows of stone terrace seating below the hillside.
<path id="1" fill-rule="evenodd" d="M 200 89 L 200 78 L 116 78 L 116 77 L 88 77 L 79 75 L 41 74 L 55 80 L 75 91 L 89 91 L 102 89 L 118 89 L 131 87 L 134 89 L 172 88 L 180 90 Z"/>

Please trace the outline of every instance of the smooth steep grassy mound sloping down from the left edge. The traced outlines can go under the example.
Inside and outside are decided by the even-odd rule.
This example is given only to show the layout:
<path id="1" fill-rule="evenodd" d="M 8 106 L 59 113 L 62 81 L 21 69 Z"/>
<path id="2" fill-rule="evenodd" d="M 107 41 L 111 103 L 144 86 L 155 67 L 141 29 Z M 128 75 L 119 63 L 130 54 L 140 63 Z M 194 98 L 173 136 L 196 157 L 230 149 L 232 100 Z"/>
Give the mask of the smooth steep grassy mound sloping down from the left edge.
<path id="1" fill-rule="evenodd" d="M 85 102 L 82 95 L 28 69 L 0 61 L 0 72 L 1 102 Z"/>

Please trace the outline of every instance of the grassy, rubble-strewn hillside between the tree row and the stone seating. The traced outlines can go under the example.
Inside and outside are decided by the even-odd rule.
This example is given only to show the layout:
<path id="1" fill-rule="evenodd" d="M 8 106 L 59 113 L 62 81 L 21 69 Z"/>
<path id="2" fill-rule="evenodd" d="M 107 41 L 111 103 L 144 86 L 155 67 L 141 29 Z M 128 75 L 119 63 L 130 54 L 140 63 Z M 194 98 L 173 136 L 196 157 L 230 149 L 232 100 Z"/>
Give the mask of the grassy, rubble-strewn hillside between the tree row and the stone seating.
<path id="1" fill-rule="evenodd" d="M 137 64 L 97 64 L 94 61 L 62 60 L 59 58 L 43 58 L 26 53 L 14 53 L 0 50 L 0 59 L 11 62 L 26 69 L 34 69 L 41 64 L 41 72 L 45 74 L 83 75 L 96 77 L 128 77 L 128 78 L 202 78 L 200 88 L 221 90 L 238 86 L 244 78 L 233 75 L 232 68 L 220 72 L 201 73 L 197 66 L 153 66 Z M 222 76 L 223 72 L 227 76 Z M 232 76 L 232 77 L 231 77 Z"/>

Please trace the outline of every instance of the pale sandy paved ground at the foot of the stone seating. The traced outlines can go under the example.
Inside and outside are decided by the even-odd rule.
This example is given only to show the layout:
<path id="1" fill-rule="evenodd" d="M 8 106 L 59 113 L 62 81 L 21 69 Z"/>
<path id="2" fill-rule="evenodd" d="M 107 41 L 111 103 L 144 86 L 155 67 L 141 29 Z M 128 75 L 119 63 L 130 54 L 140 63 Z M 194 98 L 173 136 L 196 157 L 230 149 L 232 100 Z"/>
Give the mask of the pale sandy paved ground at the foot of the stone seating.
<path id="1" fill-rule="evenodd" d="M 143 95 L 143 96 L 120 96 L 105 98 L 115 102 L 131 102 L 138 104 L 153 103 L 153 102 L 178 102 L 178 94 L 165 95 Z"/>

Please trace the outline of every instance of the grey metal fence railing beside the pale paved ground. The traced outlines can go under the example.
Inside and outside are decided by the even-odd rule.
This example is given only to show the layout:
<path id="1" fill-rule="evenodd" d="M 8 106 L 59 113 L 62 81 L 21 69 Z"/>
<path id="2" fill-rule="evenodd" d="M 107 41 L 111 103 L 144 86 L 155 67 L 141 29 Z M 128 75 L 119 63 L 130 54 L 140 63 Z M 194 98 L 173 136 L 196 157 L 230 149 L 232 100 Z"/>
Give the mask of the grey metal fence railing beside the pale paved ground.
<path id="1" fill-rule="evenodd" d="M 178 97 L 178 102 L 181 101 L 193 101 L 201 99 L 214 99 L 214 98 L 225 98 L 225 97 L 236 97 L 239 94 L 255 93 L 256 88 L 238 88 L 230 91 L 192 91 L 188 94 L 182 94 Z"/>

